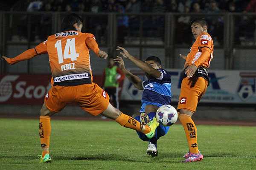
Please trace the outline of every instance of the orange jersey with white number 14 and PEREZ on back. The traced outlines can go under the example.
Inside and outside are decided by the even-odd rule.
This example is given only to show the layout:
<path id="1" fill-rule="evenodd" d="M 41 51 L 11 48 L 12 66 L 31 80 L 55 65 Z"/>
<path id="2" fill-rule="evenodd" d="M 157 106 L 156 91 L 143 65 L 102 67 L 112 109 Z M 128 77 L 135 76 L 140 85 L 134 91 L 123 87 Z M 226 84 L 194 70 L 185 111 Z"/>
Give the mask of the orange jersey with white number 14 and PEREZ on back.
<path id="1" fill-rule="evenodd" d="M 54 85 L 74 86 L 93 82 L 86 44 L 88 38 L 95 40 L 93 34 L 64 31 L 49 36 L 35 47 L 38 54 L 48 53 Z"/>

